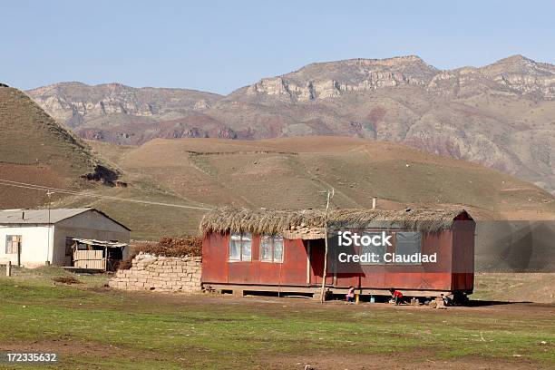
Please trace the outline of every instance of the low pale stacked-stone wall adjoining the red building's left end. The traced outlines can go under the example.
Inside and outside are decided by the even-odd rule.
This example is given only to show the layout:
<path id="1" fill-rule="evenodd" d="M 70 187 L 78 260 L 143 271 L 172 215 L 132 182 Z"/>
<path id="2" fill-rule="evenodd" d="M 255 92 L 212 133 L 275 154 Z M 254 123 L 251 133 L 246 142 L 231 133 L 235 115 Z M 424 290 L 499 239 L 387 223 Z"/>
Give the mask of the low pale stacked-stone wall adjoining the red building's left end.
<path id="1" fill-rule="evenodd" d="M 159 257 L 139 254 L 130 269 L 118 270 L 110 287 L 126 290 L 200 292 L 200 257 Z"/>

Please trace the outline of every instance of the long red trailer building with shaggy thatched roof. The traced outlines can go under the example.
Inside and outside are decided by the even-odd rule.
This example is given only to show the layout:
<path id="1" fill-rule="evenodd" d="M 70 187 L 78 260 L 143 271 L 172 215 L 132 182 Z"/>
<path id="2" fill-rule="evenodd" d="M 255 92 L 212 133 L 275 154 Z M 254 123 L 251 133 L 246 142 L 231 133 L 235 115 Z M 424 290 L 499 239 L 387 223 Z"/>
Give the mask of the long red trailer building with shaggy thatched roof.
<path id="1" fill-rule="evenodd" d="M 324 276 L 323 210 L 219 209 L 201 222 L 202 284 L 243 295 L 268 291 L 319 294 Z M 340 268 L 328 254 L 326 289 L 388 295 L 395 287 L 408 297 L 472 293 L 475 223 L 463 209 L 337 209 L 328 214 L 328 238 L 338 229 L 368 235 L 387 233 L 382 253 L 435 254 L 434 263 L 381 261 Z M 385 234 L 384 234 L 385 235 Z M 330 239 L 328 239 L 330 240 Z M 362 268 L 360 268 L 362 267 Z"/>

